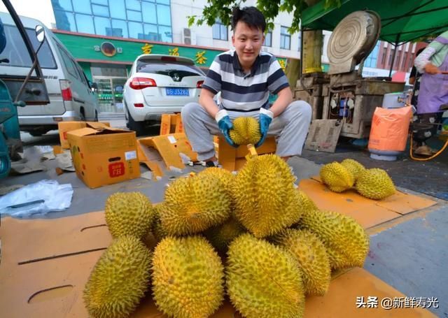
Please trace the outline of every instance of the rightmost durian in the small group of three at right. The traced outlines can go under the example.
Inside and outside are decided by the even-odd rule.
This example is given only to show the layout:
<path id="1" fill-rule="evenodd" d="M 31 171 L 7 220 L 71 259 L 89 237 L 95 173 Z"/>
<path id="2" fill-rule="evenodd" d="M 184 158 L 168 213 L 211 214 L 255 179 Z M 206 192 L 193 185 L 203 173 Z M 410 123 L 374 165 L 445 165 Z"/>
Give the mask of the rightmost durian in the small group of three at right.
<path id="1" fill-rule="evenodd" d="M 356 190 L 367 198 L 382 200 L 395 193 L 395 186 L 386 171 L 372 168 L 360 173 Z"/>

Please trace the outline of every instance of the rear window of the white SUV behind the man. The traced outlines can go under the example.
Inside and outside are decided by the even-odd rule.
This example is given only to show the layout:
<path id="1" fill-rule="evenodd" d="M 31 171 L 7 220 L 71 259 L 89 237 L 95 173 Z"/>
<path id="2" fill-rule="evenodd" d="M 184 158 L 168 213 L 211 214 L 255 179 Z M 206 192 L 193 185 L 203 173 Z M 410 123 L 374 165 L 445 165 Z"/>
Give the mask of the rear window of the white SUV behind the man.
<path id="1" fill-rule="evenodd" d="M 176 73 L 180 78 L 186 76 L 204 76 L 205 73 L 195 65 L 167 63 L 165 61 L 138 61 L 137 72 L 171 76 Z"/>

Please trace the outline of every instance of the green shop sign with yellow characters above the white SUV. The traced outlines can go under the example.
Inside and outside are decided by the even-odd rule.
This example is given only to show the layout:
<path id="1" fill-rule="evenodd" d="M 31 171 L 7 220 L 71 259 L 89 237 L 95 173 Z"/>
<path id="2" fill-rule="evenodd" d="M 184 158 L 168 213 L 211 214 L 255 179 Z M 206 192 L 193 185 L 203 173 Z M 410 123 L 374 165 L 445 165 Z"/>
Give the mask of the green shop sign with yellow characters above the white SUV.
<path id="1" fill-rule="evenodd" d="M 216 55 L 225 50 L 214 50 L 204 47 L 169 45 L 141 40 L 122 40 L 101 36 L 85 36 L 65 31 L 54 31 L 59 41 L 75 59 L 82 62 L 113 62 L 132 64 L 142 54 L 165 54 L 188 57 L 197 66 L 209 67 Z M 282 68 L 286 59 L 277 58 Z"/>

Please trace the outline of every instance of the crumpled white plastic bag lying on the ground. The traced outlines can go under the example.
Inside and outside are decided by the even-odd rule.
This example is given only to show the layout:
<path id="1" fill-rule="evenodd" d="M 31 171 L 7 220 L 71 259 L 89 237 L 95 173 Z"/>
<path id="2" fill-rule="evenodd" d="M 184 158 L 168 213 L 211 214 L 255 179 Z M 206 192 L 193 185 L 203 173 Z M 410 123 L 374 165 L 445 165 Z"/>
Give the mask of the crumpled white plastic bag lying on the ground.
<path id="1" fill-rule="evenodd" d="M 59 185 L 56 180 L 41 180 L 0 197 L 0 213 L 13 217 L 44 215 L 70 207 L 71 184 Z"/>

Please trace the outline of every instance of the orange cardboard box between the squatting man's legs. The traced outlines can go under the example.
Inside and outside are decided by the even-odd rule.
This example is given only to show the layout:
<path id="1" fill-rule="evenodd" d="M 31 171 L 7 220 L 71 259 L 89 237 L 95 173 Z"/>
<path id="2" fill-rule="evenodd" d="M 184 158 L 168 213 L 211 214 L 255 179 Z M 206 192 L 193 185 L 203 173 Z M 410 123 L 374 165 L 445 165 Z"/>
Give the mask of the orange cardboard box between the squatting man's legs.
<path id="1" fill-rule="evenodd" d="M 249 153 L 246 145 L 241 145 L 237 148 L 232 147 L 221 136 L 215 136 L 215 150 L 216 157 L 218 157 L 219 164 L 225 170 L 238 171 L 244 164 L 246 164 L 246 155 Z M 257 149 L 257 154 L 272 154 L 276 150 L 276 143 L 274 137 L 267 137 Z"/>

